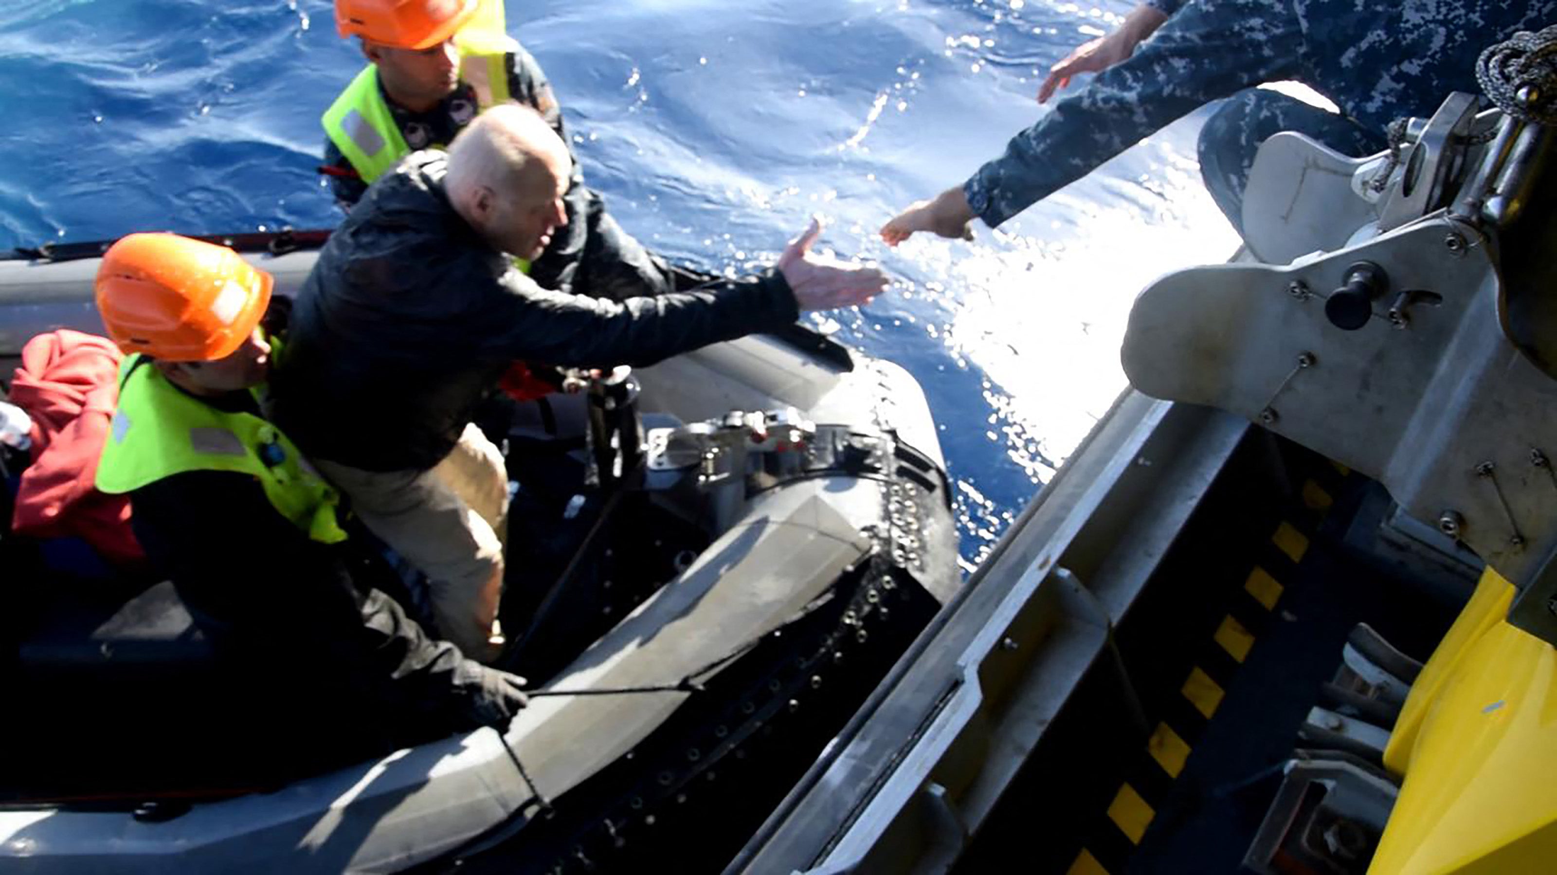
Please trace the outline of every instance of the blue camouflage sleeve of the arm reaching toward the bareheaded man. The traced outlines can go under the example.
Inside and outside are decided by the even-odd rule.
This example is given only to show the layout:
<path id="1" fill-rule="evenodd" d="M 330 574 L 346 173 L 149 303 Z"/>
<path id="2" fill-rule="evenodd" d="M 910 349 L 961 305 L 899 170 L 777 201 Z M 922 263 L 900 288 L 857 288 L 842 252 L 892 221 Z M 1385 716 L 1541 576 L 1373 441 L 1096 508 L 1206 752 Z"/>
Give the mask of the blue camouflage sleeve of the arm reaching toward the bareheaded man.
<path id="1" fill-rule="evenodd" d="M 1062 100 L 962 192 L 995 227 L 1205 103 L 1299 75 L 1289 0 L 1188 0 L 1140 50 Z"/>

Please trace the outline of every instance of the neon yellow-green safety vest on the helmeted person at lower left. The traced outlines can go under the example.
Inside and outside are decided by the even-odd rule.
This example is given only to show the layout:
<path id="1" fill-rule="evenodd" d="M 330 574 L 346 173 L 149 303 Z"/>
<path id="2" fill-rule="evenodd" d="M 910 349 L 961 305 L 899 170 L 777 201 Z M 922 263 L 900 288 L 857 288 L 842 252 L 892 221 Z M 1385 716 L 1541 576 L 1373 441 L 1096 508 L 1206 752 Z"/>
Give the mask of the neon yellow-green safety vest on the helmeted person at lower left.
<path id="1" fill-rule="evenodd" d="M 339 495 L 274 425 L 254 414 L 220 411 L 179 391 L 140 355 L 125 360 L 120 380 L 118 409 L 98 461 L 101 492 L 134 492 L 195 470 L 248 473 L 260 481 L 276 512 L 310 539 L 346 540 L 336 517 Z"/>

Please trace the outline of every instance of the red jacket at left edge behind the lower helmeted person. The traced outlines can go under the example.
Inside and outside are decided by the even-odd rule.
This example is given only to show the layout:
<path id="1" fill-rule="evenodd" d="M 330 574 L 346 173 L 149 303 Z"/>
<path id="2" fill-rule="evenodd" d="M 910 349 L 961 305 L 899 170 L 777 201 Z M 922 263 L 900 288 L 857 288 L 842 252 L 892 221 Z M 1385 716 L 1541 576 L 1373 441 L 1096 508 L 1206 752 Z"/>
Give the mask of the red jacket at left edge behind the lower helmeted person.
<path id="1" fill-rule="evenodd" d="M 118 347 L 58 330 L 22 347 L 11 403 L 33 417 L 33 464 L 11 520 L 17 534 L 76 536 L 114 565 L 145 560 L 129 529 L 129 497 L 97 490 L 97 464 L 118 405 Z"/>

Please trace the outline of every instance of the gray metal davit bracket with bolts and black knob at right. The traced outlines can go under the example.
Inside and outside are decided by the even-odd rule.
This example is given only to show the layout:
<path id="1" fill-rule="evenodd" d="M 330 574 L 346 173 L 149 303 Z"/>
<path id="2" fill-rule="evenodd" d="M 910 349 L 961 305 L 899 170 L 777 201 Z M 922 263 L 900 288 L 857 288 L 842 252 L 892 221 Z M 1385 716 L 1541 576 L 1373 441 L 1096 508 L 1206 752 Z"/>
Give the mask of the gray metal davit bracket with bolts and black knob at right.
<path id="1" fill-rule="evenodd" d="M 1557 380 L 1510 341 L 1503 318 L 1510 290 L 1549 288 L 1532 282 L 1532 272 L 1549 276 L 1545 262 L 1517 251 L 1526 229 L 1549 224 L 1531 218 L 1543 201 L 1529 195 L 1549 145 L 1531 125 L 1515 134 L 1513 118 L 1490 139 L 1454 134 L 1468 131 L 1471 111 L 1465 95 L 1451 95 L 1414 146 L 1431 140 L 1440 151 L 1408 154 L 1392 174 L 1373 224 L 1387 230 L 1294 240 L 1288 251 L 1313 254 L 1285 266 L 1163 277 L 1130 313 L 1123 360 L 1149 395 L 1232 411 L 1378 480 L 1408 514 L 1513 581 L 1523 592 L 1510 621 L 1557 643 Z M 1292 142 L 1278 148 L 1291 153 Z M 1431 195 L 1417 198 L 1428 176 Z M 1295 232 L 1323 223 L 1294 216 L 1294 204 L 1336 199 L 1249 207 L 1286 210 L 1281 221 Z M 1464 204 L 1479 209 L 1460 215 Z M 1359 265 L 1370 268 L 1365 283 Z M 1359 319 L 1337 318 L 1342 296 L 1365 299 Z"/>

